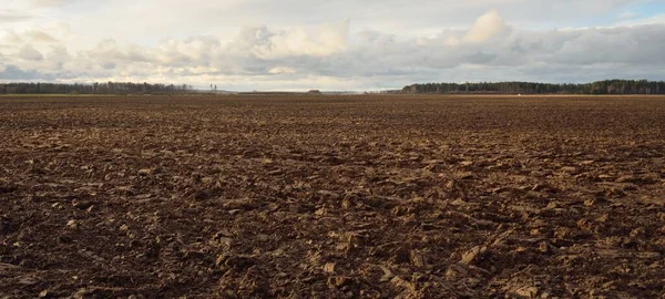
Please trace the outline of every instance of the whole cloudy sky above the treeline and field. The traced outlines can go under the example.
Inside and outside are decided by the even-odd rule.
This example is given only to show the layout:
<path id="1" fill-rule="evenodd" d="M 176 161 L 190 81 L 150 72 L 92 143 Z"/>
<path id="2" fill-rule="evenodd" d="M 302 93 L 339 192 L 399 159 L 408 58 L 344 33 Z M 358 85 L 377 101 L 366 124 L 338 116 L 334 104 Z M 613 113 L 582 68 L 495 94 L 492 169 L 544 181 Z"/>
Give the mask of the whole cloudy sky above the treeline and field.
<path id="1" fill-rule="evenodd" d="M 665 80 L 665 0 L 1 0 L 0 82 Z"/>

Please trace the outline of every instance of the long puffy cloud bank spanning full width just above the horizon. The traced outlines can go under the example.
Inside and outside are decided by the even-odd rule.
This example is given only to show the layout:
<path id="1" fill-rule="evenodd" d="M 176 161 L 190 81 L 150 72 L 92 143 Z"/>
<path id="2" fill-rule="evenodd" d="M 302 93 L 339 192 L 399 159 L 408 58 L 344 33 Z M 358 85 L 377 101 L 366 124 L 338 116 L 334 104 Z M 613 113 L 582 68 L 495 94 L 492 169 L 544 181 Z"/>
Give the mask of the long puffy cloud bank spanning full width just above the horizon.
<path id="1" fill-rule="evenodd" d="M 482 1 L 499 4 L 504 0 Z M 392 4 L 403 6 L 397 1 Z M 449 4 L 451 10 L 458 6 Z M 244 4 L 241 1 L 235 6 Z M 331 3 L 329 9 L 337 6 L 340 3 Z M 383 13 L 378 1 L 368 7 Z M 409 9 L 405 7 L 405 13 Z M 216 83 L 226 90 L 362 90 L 431 81 L 665 79 L 665 56 L 661 54 L 665 49 L 665 23 L 543 30 L 514 22 L 499 11 L 505 10 L 482 10 L 467 25 L 440 25 L 421 34 L 367 28 L 339 18 L 342 21 L 324 24 L 244 25 L 231 35 L 213 30 L 195 35 L 173 33 L 160 41 L 110 39 L 100 33 L 92 44 L 78 35 L 81 33 L 75 25 L 70 31 L 66 25 L 40 24 L 0 31 L 0 54 L 4 54 L 0 62 L 12 65 L 11 73 L 20 78 L 32 74 L 66 82 L 120 80 L 198 86 Z"/>

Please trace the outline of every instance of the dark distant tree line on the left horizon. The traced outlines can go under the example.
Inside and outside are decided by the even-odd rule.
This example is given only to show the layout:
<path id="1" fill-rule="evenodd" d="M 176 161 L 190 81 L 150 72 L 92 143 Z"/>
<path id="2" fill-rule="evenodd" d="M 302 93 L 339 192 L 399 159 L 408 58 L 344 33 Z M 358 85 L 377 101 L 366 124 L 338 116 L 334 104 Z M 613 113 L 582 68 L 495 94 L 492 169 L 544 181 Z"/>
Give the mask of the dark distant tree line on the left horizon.
<path id="1" fill-rule="evenodd" d="M 171 94 L 194 91 L 191 85 L 106 82 L 92 84 L 0 83 L 0 94 Z"/>

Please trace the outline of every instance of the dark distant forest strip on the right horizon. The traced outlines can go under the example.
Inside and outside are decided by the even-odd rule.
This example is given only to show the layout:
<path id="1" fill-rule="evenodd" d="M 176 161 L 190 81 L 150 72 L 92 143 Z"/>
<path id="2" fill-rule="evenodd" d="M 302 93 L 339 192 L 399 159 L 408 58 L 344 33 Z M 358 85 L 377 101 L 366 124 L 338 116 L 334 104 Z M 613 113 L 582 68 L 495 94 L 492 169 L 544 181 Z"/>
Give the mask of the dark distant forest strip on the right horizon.
<path id="1" fill-rule="evenodd" d="M 606 80 L 585 84 L 532 82 L 427 83 L 405 86 L 402 93 L 497 93 L 497 94 L 665 94 L 665 82 Z"/>

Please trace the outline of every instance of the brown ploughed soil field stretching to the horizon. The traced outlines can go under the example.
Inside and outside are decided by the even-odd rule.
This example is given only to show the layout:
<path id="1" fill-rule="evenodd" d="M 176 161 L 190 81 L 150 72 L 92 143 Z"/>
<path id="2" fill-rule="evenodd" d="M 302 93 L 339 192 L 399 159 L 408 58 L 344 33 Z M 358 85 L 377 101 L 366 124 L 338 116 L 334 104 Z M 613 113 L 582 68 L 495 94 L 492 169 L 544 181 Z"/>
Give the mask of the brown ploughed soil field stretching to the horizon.
<path id="1" fill-rule="evenodd" d="M 0 297 L 657 298 L 665 97 L 0 97 Z"/>

